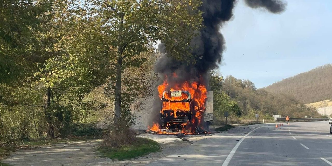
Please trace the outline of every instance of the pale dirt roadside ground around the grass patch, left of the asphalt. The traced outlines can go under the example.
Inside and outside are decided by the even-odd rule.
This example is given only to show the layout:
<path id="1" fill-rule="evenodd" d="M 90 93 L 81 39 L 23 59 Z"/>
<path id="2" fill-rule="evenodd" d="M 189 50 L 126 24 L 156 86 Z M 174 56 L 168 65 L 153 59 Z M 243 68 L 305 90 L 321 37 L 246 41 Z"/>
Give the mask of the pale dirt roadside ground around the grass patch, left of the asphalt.
<path id="1" fill-rule="evenodd" d="M 140 166 L 172 154 L 172 152 L 210 135 L 213 134 L 186 135 L 184 139 L 180 139 L 174 135 L 141 133 L 138 135 L 139 137 L 157 141 L 161 144 L 162 150 L 147 156 L 124 161 L 99 157 L 95 151 L 101 142 L 101 139 L 98 139 L 19 150 L 9 155 L 8 158 L 3 159 L 2 162 L 16 166 Z"/>

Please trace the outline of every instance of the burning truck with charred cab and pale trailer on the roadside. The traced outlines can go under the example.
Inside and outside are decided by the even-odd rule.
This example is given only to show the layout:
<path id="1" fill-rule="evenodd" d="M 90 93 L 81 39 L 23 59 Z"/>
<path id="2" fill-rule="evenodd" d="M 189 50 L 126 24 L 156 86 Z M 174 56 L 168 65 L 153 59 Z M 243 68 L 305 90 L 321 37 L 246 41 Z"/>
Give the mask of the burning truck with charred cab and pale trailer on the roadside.
<path id="1" fill-rule="evenodd" d="M 159 122 L 150 131 L 159 134 L 199 134 L 208 133 L 213 120 L 213 91 L 204 94 L 204 106 L 198 107 L 197 100 L 189 91 L 163 91 L 161 96 Z M 199 109 L 201 108 L 201 109 Z"/>

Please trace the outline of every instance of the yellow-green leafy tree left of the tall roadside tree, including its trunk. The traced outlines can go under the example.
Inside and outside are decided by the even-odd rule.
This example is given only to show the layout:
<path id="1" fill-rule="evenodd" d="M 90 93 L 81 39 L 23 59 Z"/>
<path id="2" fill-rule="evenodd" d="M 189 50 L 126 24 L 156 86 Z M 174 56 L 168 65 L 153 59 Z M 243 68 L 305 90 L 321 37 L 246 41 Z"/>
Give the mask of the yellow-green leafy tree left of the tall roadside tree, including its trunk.
<path id="1" fill-rule="evenodd" d="M 91 103 L 82 102 L 84 96 L 106 83 L 110 73 L 110 57 L 105 51 L 109 48 L 95 44 L 103 41 L 100 29 L 82 19 L 84 11 L 77 10 L 78 6 L 54 1 L 53 9 L 46 13 L 51 17 L 44 22 L 45 31 L 34 34 L 41 47 L 36 53 L 45 60 L 34 63 L 33 74 L 21 80 L 25 82 L 21 87 L 12 91 L 14 87 L 3 86 L 1 92 L 7 93 L 3 100 L 9 105 L 41 108 L 47 138 L 54 138 L 55 128 L 61 130 L 75 115 L 87 110 Z M 37 97 L 28 98 L 31 94 Z"/>

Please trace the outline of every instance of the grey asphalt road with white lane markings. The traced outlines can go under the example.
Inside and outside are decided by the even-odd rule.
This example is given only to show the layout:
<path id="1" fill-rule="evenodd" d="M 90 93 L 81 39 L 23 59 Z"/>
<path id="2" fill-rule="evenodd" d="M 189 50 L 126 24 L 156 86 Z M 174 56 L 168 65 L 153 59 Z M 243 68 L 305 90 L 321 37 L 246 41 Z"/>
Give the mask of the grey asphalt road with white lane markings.
<path id="1" fill-rule="evenodd" d="M 148 166 L 332 166 L 328 122 L 238 126 L 201 139 Z"/>

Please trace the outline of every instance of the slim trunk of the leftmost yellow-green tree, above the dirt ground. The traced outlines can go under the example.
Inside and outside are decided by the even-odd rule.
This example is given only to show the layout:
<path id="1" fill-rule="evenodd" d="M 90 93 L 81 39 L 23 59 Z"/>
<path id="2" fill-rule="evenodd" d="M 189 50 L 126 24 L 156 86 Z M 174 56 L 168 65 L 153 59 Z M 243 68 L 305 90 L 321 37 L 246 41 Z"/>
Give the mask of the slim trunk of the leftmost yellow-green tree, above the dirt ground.
<path id="1" fill-rule="evenodd" d="M 46 93 L 44 95 L 44 108 L 45 108 L 45 120 L 47 124 L 47 137 L 46 139 L 53 139 L 54 138 L 54 123 L 52 120 L 52 113 L 49 110 L 49 106 L 51 104 L 51 88 L 47 87 Z"/>

